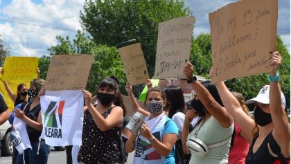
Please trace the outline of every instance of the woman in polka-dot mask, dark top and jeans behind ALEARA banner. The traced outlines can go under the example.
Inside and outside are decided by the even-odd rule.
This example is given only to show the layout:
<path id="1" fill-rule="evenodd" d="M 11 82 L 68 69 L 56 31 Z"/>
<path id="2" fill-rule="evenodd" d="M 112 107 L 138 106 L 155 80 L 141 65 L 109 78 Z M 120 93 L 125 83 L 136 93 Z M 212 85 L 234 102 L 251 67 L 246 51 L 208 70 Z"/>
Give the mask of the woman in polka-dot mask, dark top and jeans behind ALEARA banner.
<path id="1" fill-rule="evenodd" d="M 30 102 L 28 102 L 23 111 L 14 108 L 13 113 L 15 116 L 26 122 L 26 131 L 32 149 L 24 150 L 24 157 L 30 164 L 46 164 L 48 161 L 48 154 L 51 152 L 50 146 L 46 145 L 43 139 L 39 140 L 42 134 L 42 112 L 40 109 L 40 95 L 44 94 L 44 80 L 37 78 L 32 80 L 28 95 Z M 18 154 L 16 159 L 17 164 L 24 163 L 23 154 Z"/>

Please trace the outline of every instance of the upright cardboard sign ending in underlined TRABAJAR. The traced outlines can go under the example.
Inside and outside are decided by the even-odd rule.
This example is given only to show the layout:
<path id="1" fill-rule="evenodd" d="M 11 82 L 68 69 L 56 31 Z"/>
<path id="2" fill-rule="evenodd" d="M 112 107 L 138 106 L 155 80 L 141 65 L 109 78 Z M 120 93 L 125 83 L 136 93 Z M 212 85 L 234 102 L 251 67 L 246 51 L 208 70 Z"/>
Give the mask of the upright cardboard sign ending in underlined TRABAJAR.
<path id="1" fill-rule="evenodd" d="M 194 17 L 181 17 L 159 24 L 155 78 L 184 78 L 189 61 Z"/>

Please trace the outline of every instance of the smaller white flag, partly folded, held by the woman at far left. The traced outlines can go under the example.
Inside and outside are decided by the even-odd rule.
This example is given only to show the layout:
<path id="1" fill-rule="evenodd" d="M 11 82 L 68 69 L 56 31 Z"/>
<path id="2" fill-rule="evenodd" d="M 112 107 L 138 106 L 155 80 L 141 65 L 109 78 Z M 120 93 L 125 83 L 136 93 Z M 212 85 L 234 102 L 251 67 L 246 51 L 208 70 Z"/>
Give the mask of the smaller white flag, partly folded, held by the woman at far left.
<path id="1" fill-rule="evenodd" d="M 11 130 L 11 142 L 16 147 L 19 154 L 23 154 L 25 149 L 30 148 L 30 141 L 26 131 L 26 122 L 15 117 Z"/>

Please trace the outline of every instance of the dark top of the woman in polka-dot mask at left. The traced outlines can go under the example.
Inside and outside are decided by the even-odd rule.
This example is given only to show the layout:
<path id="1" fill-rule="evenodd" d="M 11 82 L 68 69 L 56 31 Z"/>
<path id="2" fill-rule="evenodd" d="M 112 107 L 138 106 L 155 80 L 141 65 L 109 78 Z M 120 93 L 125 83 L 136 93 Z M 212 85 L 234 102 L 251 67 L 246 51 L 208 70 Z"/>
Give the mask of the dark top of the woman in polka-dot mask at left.
<path id="1" fill-rule="evenodd" d="M 31 109 L 31 111 L 29 111 L 30 105 L 32 103 L 33 102 L 29 102 L 26 105 L 26 109 L 24 110 L 24 114 L 25 114 L 25 116 L 27 116 L 31 120 L 37 121 L 38 114 L 40 111 L 40 104 L 37 104 L 37 106 L 35 106 L 33 109 Z M 42 131 L 37 131 L 37 129 L 34 129 L 33 127 L 30 127 L 29 125 L 26 125 L 26 131 L 27 131 L 30 143 L 39 142 L 39 136 L 42 134 Z"/>

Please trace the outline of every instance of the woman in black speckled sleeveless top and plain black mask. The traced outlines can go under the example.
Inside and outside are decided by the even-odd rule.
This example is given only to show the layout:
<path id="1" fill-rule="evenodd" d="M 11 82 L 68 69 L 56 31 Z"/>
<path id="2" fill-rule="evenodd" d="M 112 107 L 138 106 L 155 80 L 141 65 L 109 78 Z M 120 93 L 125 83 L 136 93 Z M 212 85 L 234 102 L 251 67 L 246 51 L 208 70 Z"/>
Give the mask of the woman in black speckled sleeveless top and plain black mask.
<path id="1" fill-rule="evenodd" d="M 114 104 L 123 104 L 116 80 L 103 79 L 97 89 L 97 106 L 91 103 L 91 93 L 83 91 L 88 109 L 84 114 L 82 145 L 78 163 L 121 163 L 120 136 L 126 111 Z"/>

